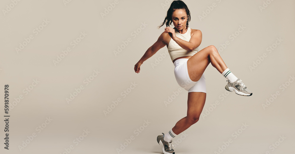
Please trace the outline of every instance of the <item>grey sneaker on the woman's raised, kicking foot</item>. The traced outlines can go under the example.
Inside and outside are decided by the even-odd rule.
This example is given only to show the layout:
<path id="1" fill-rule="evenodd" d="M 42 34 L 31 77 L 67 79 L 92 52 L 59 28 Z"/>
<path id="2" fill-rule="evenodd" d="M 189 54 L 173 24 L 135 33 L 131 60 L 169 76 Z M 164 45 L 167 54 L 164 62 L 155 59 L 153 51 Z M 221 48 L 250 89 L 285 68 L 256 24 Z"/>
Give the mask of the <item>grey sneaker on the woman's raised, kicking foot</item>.
<path id="1" fill-rule="evenodd" d="M 241 79 L 237 79 L 235 82 L 230 82 L 227 80 L 227 85 L 225 86 L 225 89 L 227 91 L 235 91 L 236 94 L 242 95 L 242 96 L 251 96 L 252 92 L 244 85 Z"/>

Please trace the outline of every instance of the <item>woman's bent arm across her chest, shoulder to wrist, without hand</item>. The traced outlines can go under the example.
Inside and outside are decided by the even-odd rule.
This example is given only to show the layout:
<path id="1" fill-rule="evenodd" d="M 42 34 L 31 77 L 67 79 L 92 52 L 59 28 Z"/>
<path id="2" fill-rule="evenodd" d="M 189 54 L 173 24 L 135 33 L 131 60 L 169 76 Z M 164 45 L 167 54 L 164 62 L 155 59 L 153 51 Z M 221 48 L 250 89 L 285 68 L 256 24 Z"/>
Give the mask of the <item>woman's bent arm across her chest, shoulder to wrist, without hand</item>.
<path id="1" fill-rule="evenodd" d="M 199 47 L 202 42 L 202 32 L 199 29 L 194 30 L 194 33 L 191 35 L 189 42 L 178 37 L 175 37 L 173 40 L 183 49 L 186 49 L 187 51 L 193 51 L 196 49 L 196 47 Z"/>

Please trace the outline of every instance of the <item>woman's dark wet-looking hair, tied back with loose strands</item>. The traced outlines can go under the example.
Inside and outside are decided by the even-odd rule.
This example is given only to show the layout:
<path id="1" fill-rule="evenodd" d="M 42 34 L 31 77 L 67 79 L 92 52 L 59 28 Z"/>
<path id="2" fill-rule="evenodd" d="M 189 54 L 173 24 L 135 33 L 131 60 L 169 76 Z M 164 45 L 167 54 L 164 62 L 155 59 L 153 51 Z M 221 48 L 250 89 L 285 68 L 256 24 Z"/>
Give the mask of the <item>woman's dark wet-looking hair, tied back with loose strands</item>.
<path id="1" fill-rule="evenodd" d="M 160 26 L 158 26 L 158 29 L 160 27 L 162 27 L 164 25 L 164 23 L 166 24 L 166 27 L 168 27 L 169 25 L 172 24 L 172 14 L 176 9 L 183 9 L 186 11 L 186 15 L 188 15 L 187 21 L 186 21 L 186 30 L 189 27 L 189 21 L 191 21 L 191 13 L 189 11 L 189 8 L 186 6 L 186 4 L 184 4 L 183 1 L 178 0 L 178 1 L 173 1 L 171 3 L 170 8 L 167 11 L 167 16 L 164 19 L 164 22 L 161 23 Z"/>

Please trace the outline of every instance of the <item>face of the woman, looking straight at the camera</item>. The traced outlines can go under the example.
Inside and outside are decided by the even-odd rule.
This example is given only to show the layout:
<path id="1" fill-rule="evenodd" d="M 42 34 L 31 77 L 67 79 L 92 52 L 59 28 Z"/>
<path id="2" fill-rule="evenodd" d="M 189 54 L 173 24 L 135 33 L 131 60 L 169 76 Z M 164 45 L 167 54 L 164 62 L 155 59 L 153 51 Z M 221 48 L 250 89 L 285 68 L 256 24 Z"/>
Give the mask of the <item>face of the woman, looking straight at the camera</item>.
<path id="1" fill-rule="evenodd" d="M 172 14 L 172 22 L 174 27 L 176 27 L 178 30 L 182 30 L 183 28 L 186 28 L 186 21 L 187 21 L 188 15 L 186 15 L 186 12 L 183 9 L 176 9 Z"/>

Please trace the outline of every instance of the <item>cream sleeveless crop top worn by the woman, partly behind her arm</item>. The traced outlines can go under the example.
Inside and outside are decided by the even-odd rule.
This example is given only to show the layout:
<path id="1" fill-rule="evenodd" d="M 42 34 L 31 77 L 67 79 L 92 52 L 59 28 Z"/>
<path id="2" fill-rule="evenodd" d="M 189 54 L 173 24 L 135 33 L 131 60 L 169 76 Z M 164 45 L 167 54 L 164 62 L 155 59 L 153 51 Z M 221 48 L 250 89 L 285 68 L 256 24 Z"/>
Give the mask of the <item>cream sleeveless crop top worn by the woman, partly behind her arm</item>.
<path id="1" fill-rule="evenodd" d="M 175 35 L 176 37 L 189 42 L 189 40 L 191 39 L 191 28 L 188 27 L 186 33 L 184 34 L 180 34 L 175 30 Z M 172 61 L 178 57 L 193 56 L 194 54 L 199 52 L 198 47 L 196 47 L 193 51 L 187 51 L 186 49 L 183 49 L 172 38 L 170 39 L 167 49 Z"/>

